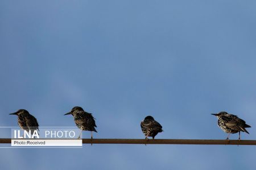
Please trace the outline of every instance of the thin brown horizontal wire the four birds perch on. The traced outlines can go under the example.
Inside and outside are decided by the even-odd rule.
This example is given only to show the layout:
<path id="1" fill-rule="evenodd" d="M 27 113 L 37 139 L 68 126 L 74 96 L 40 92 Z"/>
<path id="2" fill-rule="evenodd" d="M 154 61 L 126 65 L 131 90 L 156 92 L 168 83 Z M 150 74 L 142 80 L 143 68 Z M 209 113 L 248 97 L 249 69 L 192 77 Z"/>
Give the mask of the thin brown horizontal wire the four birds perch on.
<path id="1" fill-rule="evenodd" d="M 20 139 L 19 139 L 20 140 Z M 26 140 L 26 139 L 24 139 Z M 36 140 L 36 139 L 32 139 Z M 56 139 L 52 139 L 56 140 Z M 65 139 L 63 139 L 65 140 Z M 82 143 L 93 144 L 145 144 L 145 139 L 82 139 Z M 10 138 L 0 139 L 0 143 L 11 143 Z M 256 145 L 256 140 L 213 140 L 213 139 L 149 139 L 147 144 L 218 144 Z"/>

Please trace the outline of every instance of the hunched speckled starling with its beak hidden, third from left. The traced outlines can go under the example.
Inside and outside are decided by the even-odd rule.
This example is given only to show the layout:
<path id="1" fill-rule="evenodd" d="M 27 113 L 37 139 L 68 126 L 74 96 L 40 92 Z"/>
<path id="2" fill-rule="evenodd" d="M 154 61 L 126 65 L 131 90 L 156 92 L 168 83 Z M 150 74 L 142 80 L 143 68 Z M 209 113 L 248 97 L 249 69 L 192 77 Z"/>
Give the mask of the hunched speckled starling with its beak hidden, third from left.
<path id="1" fill-rule="evenodd" d="M 141 122 L 141 130 L 146 136 L 146 142 L 148 140 L 148 136 L 152 136 L 153 139 L 155 139 L 155 136 L 159 133 L 162 132 L 162 126 L 160 123 L 156 122 L 153 117 L 150 115 L 144 118 L 144 121 Z"/>

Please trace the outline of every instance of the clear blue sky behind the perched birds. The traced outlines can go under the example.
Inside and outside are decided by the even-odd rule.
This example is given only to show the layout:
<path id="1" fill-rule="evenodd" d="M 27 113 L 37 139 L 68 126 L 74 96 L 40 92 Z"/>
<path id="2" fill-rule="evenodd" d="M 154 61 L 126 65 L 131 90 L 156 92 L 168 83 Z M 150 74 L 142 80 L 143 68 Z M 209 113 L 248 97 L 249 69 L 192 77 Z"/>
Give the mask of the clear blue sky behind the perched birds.
<path id="1" fill-rule="evenodd" d="M 27 109 L 40 126 L 93 113 L 94 138 L 225 139 L 210 115 L 256 122 L 255 1 L 1 1 L 0 126 Z M 1 138 L 10 136 L 1 130 Z M 89 138 L 89 132 L 83 132 Z M 231 139 L 237 139 L 232 134 Z M 253 146 L 84 145 L 1 149 L 3 169 L 255 169 Z M 15 161 L 15 163 L 14 163 Z M 192 168 L 193 167 L 193 168 Z"/>

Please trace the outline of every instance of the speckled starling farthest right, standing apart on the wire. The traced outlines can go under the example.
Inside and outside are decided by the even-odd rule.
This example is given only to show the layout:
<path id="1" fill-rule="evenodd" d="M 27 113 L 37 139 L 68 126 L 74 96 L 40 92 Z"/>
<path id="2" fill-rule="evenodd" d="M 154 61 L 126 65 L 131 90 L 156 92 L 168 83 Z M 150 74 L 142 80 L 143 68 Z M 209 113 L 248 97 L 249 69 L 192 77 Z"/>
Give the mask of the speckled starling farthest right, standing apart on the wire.
<path id="1" fill-rule="evenodd" d="M 228 114 L 225 111 L 221 111 L 220 113 L 217 114 L 212 114 L 215 115 L 218 118 L 218 126 L 228 133 L 228 137 L 226 138 L 229 140 L 229 135 L 230 134 L 236 134 L 239 132 L 239 138 L 240 140 L 240 132 L 246 132 L 249 134 L 249 132 L 245 129 L 246 127 L 251 127 L 250 125 L 247 125 L 245 121 L 242 119 L 238 118 L 236 115 L 233 114 Z"/>

